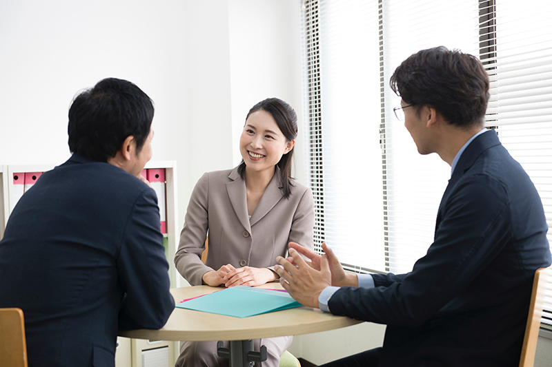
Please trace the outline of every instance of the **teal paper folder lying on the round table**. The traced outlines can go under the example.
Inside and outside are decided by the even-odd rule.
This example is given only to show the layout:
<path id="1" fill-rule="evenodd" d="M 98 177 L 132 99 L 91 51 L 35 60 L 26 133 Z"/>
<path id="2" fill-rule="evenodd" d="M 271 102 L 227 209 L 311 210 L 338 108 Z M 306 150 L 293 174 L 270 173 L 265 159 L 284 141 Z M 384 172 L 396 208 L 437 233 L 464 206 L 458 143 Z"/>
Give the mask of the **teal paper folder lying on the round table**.
<path id="1" fill-rule="evenodd" d="M 177 304 L 179 308 L 234 317 L 248 317 L 299 306 L 302 304 L 286 291 L 250 286 L 233 286 Z"/>

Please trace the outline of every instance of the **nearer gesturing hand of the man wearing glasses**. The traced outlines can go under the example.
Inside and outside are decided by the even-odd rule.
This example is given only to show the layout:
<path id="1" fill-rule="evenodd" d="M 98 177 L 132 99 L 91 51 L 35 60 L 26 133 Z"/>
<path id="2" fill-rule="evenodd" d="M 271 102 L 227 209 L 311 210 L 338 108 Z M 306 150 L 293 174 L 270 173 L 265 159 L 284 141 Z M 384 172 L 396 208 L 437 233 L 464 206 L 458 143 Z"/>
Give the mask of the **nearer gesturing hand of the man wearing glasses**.
<path id="1" fill-rule="evenodd" d="M 331 273 L 328 266 L 328 258 L 326 255 L 319 259 L 319 269 L 311 266 L 301 258 L 295 249 L 289 250 L 293 264 L 278 256 L 276 261 L 275 271 L 282 277 L 282 286 L 291 297 L 297 302 L 305 306 L 318 307 L 318 296 L 326 288 L 331 285 Z M 295 265 L 294 265 L 295 264 Z"/>

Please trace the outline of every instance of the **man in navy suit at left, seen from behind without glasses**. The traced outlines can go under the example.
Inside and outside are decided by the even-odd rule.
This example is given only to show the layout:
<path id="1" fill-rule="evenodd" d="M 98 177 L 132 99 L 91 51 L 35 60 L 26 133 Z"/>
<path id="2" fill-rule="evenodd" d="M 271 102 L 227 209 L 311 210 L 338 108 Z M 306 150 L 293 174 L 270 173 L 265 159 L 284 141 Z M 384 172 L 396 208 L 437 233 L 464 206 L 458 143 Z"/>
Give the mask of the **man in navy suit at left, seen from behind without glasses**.
<path id="1" fill-rule="evenodd" d="M 155 191 L 153 105 L 115 78 L 69 110 L 71 158 L 17 203 L 0 242 L 0 307 L 25 317 L 29 366 L 115 366 L 117 331 L 161 328 L 175 302 Z"/>

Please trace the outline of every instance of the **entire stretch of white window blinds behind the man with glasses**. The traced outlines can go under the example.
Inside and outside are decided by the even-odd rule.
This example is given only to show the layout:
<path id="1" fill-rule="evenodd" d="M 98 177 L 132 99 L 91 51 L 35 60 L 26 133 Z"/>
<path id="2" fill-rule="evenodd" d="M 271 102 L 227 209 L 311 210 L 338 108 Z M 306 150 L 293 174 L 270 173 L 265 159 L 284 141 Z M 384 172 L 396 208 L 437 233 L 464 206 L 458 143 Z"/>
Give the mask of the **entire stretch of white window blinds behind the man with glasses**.
<path id="1" fill-rule="evenodd" d="M 388 87 L 395 68 L 444 45 L 491 78 L 486 126 L 522 164 L 552 223 L 552 5 L 546 0 L 304 0 L 304 78 L 317 246 L 346 269 L 410 271 L 431 242 L 450 178 L 420 156 Z M 538 11 L 535 11 L 537 9 Z M 549 233 L 549 242 L 552 235 Z M 552 326 L 552 280 L 544 323 Z"/>

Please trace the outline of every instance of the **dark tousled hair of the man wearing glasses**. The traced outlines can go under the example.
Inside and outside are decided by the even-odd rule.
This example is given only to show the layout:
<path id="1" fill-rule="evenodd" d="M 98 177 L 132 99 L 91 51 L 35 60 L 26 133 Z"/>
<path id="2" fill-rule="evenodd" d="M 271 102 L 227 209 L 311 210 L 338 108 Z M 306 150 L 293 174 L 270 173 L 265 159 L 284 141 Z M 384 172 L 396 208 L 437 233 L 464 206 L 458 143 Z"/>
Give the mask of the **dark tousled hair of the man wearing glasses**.
<path id="1" fill-rule="evenodd" d="M 390 85 L 405 103 L 435 107 L 452 125 L 483 125 L 489 76 L 473 55 L 443 46 L 422 50 L 397 67 Z"/>

